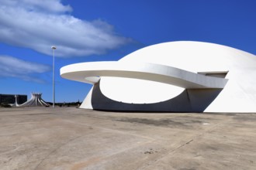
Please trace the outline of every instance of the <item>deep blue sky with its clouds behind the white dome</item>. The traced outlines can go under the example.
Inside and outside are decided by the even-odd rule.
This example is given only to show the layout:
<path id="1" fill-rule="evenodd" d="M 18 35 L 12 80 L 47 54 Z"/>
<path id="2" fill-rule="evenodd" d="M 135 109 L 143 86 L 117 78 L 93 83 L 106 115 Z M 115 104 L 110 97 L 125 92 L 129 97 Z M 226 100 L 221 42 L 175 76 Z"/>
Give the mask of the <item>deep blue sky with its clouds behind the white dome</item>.
<path id="1" fill-rule="evenodd" d="M 1 0 L 0 93 L 84 100 L 90 84 L 64 80 L 62 66 L 118 60 L 144 46 L 192 40 L 256 53 L 254 0 Z"/>

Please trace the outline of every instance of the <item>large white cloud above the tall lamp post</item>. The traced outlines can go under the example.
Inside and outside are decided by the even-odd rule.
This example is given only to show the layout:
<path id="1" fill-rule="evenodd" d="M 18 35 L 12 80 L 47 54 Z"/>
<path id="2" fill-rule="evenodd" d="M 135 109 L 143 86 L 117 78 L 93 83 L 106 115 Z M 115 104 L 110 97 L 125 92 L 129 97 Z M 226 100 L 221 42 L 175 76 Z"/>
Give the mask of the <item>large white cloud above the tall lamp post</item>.
<path id="1" fill-rule="evenodd" d="M 92 22 L 68 14 L 72 8 L 60 0 L 2 0 L 0 42 L 56 56 L 87 56 L 106 53 L 130 42 L 101 20 Z"/>

